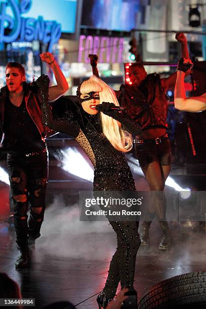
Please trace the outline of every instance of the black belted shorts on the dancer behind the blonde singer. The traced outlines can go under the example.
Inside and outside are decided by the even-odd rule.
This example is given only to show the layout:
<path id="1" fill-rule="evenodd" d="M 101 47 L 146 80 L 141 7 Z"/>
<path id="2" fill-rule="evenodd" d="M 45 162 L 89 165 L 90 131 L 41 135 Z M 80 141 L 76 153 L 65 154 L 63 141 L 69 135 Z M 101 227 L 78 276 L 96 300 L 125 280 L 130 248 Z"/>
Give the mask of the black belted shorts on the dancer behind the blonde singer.
<path id="1" fill-rule="evenodd" d="M 146 140 L 144 140 L 146 141 Z M 158 161 L 161 165 L 171 164 L 171 146 L 169 138 L 164 137 L 161 143 L 134 143 L 133 155 L 139 161 L 140 166 Z"/>

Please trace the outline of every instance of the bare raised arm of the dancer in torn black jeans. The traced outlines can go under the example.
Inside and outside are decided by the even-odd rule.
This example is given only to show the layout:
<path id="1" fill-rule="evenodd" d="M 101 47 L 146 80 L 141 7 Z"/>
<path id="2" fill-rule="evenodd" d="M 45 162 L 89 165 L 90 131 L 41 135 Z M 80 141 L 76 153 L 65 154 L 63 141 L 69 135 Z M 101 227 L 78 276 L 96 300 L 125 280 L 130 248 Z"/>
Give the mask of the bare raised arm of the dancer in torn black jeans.
<path id="1" fill-rule="evenodd" d="M 55 78 L 57 81 L 56 86 L 51 86 L 48 88 L 48 97 L 49 101 L 54 101 L 61 95 L 63 95 L 68 89 L 68 82 L 62 73 L 55 57 L 51 53 L 42 53 L 40 54 L 40 58 L 43 62 L 47 63 L 55 74 Z"/>

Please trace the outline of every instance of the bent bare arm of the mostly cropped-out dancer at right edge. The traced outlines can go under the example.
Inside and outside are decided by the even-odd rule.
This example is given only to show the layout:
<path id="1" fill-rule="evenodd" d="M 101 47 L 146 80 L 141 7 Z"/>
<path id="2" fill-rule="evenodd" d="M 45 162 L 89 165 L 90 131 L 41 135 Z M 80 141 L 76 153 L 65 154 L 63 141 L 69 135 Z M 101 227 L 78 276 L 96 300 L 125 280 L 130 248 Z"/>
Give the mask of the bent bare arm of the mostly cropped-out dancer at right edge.
<path id="1" fill-rule="evenodd" d="M 201 96 L 186 98 L 184 86 L 185 73 L 177 71 L 177 81 L 175 85 L 175 108 L 185 112 L 201 112 L 206 110 L 206 93 Z"/>

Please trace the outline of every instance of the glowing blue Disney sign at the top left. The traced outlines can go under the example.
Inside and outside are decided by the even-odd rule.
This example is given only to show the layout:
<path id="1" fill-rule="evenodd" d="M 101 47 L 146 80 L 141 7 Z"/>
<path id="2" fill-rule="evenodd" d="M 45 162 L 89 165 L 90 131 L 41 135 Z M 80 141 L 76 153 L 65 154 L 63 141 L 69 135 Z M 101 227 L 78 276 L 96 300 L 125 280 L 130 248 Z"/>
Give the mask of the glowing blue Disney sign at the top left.
<path id="1" fill-rule="evenodd" d="M 61 25 L 56 21 L 45 21 L 42 16 L 38 19 L 22 17 L 22 14 L 30 10 L 31 5 L 32 0 L 21 0 L 19 5 L 15 0 L 7 0 L 1 4 L 0 43 L 39 40 L 48 44 L 48 52 L 52 52 L 53 44 L 60 39 Z M 8 7 L 13 16 L 7 14 Z"/>

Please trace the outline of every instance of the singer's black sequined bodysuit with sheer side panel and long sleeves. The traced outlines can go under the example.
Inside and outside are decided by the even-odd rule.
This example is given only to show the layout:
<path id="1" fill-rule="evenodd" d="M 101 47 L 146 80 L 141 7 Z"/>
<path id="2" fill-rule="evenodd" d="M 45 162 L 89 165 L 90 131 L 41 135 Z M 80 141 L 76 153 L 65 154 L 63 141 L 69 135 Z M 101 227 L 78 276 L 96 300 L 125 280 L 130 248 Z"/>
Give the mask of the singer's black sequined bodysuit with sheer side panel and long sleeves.
<path id="1" fill-rule="evenodd" d="M 124 154 L 116 150 L 102 133 L 99 113 L 89 115 L 80 108 L 76 113 L 66 112 L 64 118 L 54 119 L 47 99 L 43 100 L 41 109 L 43 123 L 56 131 L 73 136 L 91 160 L 94 166 L 95 191 L 135 191 L 134 179 Z M 130 131 L 140 130 L 137 124 L 118 112 L 112 111 L 109 116 L 117 119 Z M 104 292 L 109 298 L 113 298 L 119 281 L 122 287 L 133 289 L 135 260 L 140 240 L 138 222 L 110 223 L 117 233 L 118 247 L 110 264 Z"/>

